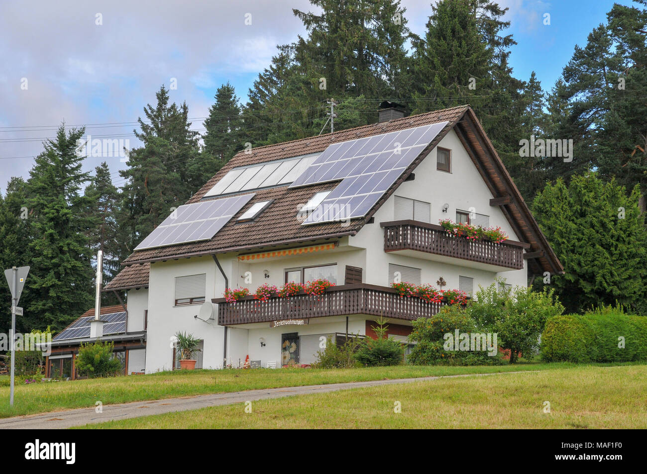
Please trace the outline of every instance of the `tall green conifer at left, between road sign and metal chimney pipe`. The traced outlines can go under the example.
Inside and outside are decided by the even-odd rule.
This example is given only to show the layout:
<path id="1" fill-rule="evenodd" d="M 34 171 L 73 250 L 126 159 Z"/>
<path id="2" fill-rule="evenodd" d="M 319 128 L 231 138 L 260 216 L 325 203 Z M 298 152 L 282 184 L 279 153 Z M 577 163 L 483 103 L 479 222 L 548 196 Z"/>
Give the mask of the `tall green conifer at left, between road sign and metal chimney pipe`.
<path id="1" fill-rule="evenodd" d="M 85 230 L 87 198 L 80 190 L 89 176 L 76 155 L 85 129 L 65 132 L 44 143 L 27 182 L 32 239 L 28 242 L 30 294 L 21 329 L 61 330 L 93 302 L 93 270 Z"/>

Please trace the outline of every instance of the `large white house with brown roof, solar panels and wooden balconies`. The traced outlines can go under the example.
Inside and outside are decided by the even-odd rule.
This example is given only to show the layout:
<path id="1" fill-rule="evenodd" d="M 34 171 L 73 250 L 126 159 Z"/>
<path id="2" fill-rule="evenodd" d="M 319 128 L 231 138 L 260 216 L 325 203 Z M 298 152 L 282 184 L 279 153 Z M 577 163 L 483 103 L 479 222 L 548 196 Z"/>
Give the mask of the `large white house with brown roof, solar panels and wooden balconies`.
<path id="1" fill-rule="evenodd" d="M 127 290 L 128 318 L 146 312 L 146 372 L 179 367 L 177 331 L 201 339 L 197 367 L 311 364 L 327 343 L 374 336 L 380 316 L 404 340 L 439 311 L 393 282 L 471 296 L 499 277 L 526 286 L 563 272 L 472 109 L 404 116 L 396 105 L 373 125 L 241 151 L 170 210 L 105 288 Z M 468 241 L 441 219 L 508 239 Z M 332 286 L 223 297 L 316 279 Z"/>

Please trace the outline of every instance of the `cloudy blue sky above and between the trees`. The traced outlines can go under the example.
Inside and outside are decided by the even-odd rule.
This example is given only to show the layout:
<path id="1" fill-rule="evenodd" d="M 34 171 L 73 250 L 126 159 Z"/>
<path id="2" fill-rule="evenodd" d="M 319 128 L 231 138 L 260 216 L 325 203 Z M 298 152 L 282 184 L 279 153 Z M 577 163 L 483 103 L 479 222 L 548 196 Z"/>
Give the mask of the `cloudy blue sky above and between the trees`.
<path id="1" fill-rule="evenodd" d="M 618 3 L 631 5 L 629 0 Z M 424 34 L 430 0 L 402 0 L 408 27 Z M 501 0 L 518 45 L 510 64 L 517 78 L 534 70 L 549 90 L 593 28 L 606 22 L 613 1 Z M 193 128 L 202 129 L 215 89 L 230 81 L 239 97 L 267 67 L 277 44 L 304 34 L 292 8 L 307 0 L 38 0 L 0 5 L 0 190 L 12 176 L 28 177 L 32 156 L 56 126 L 88 125 L 87 135 L 131 136 L 155 92 L 171 78 L 171 100 L 186 100 Z M 550 25 L 543 24 L 550 14 Z M 252 24 L 245 25 L 251 14 Z M 21 88 L 27 79 L 27 89 Z M 98 125 L 90 125 L 98 124 Z M 120 158 L 86 158 L 91 170 L 106 160 L 121 184 Z"/>

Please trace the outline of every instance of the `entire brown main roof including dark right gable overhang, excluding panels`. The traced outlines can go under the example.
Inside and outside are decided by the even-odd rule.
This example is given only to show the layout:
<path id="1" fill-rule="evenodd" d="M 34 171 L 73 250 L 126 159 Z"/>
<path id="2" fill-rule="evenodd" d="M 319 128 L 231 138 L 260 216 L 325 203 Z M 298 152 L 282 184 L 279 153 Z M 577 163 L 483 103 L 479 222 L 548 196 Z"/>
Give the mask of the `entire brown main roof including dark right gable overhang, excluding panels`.
<path id="1" fill-rule="evenodd" d="M 505 166 L 503 166 L 501 158 L 499 158 L 487 135 L 485 135 L 485 131 L 483 131 L 483 127 L 481 127 L 474 111 L 468 105 L 337 131 L 334 134 L 302 138 L 301 140 L 293 140 L 276 145 L 267 145 L 253 149 L 252 153 L 241 151 L 213 178 L 206 182 L 187 201 L 187 204 L 199 202 L 234 167 L 291 158 L 292 156 L 320 153 L 333 143 L 440 122 L 448 122 L 448 124 L 402 175 L 400 175 L 400 178 L 384 193 L 384 196 L 373 206 L 367 215 L 362 219 L 353 219 L 350 225 L 344 225 L 347 224 L 344 222 L 324 222 L 322 224 L 302 226 L 301 222 L 297 219 L 298 208 L 305 204 L 314 193 L 333 189 L 338 182 L 303 186 L 302 188 L 283 186 L 272 189 L 261 189 L 254 191 L 255 195 L 250 202 L 239 213 L 234 215 L 232 220 L 213 239 L 138 250 L 137 252 L 133 252 L 124 261 L 124 264 L 131 265 L 156 260 L 251 250 L 252 248 L 265 248 L 269 246 L 296 245 L 298 242 L 323 241 L 325 239 L 338 239 L 342 235 L 354 235 L 373 217 L 373 214 L 384 204 L 395 189 L 400 186 L 402 181 L 410 175 L 415 167 L 421 163 L 429 151 L 444 138 L 446 133 L 450 129 L 455 129 L 457 135 L 459 135 L 459 139 L 468 150 L 474 166 L 481 173 L 481 177 L 485 180 L 492 195 L 494 197 L 510 197 L 509 204 L 502 205 L 501 210 L 510 221 L 518 237 L 522 241 L 531 244 L 529 252 L 537 252 L 540 254 L 540 256 L 536 257 L 536 261 L 534 259 L 529 260 L 531 262 L 532 272 L 540 273 L 549 271 L 553 274 L 563 273 L 564 268 L 562 268 L 562 264 L 554 254 L 553 249 L 549 246 L 537 222 L 532 217 L 528 206 L 523 201 L 514 182 L 512 182 L 512 178 L 510 178 Z M 249 191 L 243 191 L 243 193 L 245 192 Z M 273 200 L 273 202 L 255 221 L 245 223 L 236 222 L 236 218 L 247 211 L 255 202 L 265 200 Z M 120 277 L 121 273 L 113 281 Z M 112 285 L 113 282 L 109 285 L 111 288 L 106 288 L 115 288 Z"/>

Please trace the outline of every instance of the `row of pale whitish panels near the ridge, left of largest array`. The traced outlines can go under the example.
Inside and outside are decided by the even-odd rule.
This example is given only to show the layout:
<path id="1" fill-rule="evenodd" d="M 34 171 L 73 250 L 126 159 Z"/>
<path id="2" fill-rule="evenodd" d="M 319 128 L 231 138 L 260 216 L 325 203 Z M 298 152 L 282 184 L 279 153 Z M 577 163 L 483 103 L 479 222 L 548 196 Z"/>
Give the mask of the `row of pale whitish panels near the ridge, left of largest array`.
<path id="1" fill-rule="evenodd" d="M 317 156 L 302 156 L 229 171 L 204 197 L 289 184 L 298 178 Z"/>

